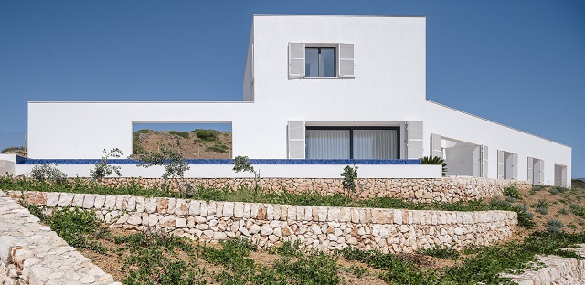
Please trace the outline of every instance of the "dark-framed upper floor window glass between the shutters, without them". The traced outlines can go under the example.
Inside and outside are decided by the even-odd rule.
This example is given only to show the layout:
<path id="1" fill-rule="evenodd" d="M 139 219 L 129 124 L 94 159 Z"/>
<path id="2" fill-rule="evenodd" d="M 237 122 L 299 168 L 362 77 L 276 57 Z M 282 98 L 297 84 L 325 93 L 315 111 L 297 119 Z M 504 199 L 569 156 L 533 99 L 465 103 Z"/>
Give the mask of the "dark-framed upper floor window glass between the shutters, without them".
<path id="1" fill-rule="evenodd" d="M 304 48 L 305 77 L 335 77 L 335 47 Z"/>

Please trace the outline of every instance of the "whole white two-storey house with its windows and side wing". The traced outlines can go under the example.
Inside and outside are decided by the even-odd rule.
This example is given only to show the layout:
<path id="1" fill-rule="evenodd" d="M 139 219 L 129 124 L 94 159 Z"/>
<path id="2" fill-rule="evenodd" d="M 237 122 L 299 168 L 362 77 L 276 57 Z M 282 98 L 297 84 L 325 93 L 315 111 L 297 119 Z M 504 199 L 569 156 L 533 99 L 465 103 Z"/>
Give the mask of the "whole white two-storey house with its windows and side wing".
<path id="1" fill-rule="evenodd" d="M 133 124 L 229 122 L 258 159 L 445 158 L 449 175 L 568 185 L 569 146 L 426 100 L 425 16 L 253 16 L 235 102 L 29 102 L 29 156 L 133 150 Z"/>

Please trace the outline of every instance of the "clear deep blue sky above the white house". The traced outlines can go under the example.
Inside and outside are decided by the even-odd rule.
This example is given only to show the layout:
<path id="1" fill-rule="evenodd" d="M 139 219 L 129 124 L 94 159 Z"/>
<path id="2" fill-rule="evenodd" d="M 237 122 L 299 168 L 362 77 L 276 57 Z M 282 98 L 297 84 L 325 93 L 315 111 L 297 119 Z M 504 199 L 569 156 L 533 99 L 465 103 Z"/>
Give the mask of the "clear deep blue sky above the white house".
<path id="1" fill-rule="evenodd" d="M 0 132 L 29 100 L 241 100 L 253 14 L 427 16 L 427 98 L 573 148 L 585 1 L 0 2 Z"/>

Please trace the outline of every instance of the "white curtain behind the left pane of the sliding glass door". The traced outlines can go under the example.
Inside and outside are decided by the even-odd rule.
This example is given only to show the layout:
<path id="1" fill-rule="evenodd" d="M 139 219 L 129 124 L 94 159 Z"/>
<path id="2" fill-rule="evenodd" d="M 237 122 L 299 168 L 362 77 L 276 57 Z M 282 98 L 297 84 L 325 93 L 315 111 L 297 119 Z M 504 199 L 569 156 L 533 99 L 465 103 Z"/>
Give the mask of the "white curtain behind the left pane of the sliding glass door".
<path id="1" fill-rule="evenodd" d="M 349 130 L 307 130 L 308 159 L 348 159 Z"/>

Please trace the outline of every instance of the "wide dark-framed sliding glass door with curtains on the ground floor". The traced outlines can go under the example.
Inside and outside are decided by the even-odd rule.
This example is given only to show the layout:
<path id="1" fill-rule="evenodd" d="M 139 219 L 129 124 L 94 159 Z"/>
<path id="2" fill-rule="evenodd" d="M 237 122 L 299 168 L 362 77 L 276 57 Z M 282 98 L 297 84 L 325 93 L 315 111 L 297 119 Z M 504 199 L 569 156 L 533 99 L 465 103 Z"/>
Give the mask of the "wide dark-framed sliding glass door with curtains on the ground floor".
<path id="1" fill-rule="evenodd" d="M 307 127 L 308 159 L 398 159 L 398 127 Z"/>

